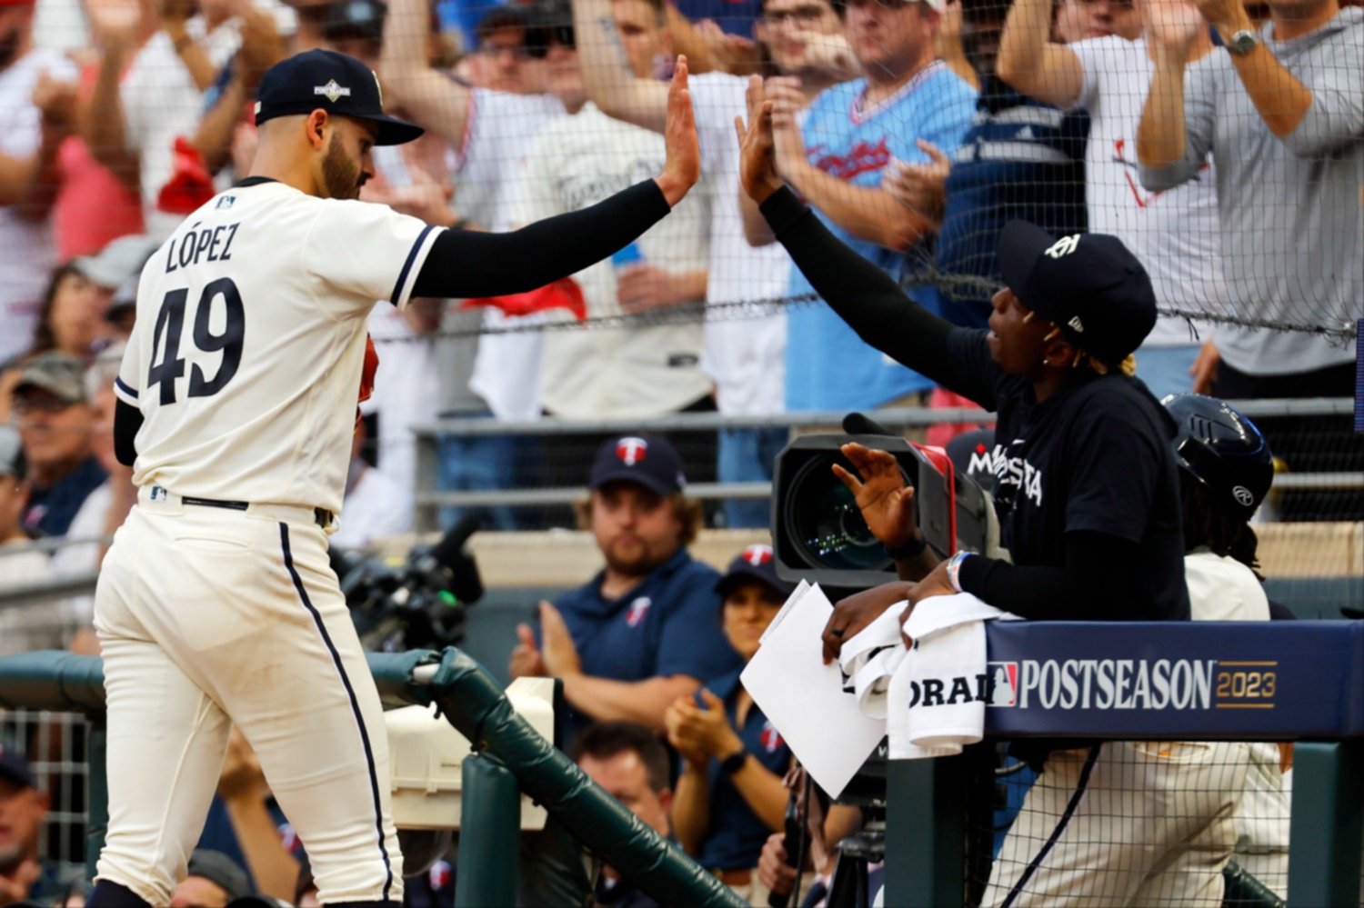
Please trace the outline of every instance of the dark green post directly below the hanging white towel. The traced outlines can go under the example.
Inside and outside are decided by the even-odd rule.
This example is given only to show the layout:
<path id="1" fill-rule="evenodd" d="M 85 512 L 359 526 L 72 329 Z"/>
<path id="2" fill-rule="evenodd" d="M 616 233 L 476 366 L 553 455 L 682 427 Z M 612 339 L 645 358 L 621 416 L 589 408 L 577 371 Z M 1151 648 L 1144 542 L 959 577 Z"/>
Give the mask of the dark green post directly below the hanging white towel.
<path id="1" fill-rule="evenodd" d="M 885 770 L 885 904 L 966 900 L 966 758 L 892 759 Z"/>

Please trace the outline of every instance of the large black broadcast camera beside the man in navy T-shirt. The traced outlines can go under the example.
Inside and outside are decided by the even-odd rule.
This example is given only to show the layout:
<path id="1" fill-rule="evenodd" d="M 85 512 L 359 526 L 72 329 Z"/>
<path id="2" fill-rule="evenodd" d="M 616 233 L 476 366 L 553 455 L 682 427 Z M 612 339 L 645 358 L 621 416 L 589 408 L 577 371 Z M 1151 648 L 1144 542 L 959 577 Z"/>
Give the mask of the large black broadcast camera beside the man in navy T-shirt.
<path id="1" fill-rule="evenodd" d="M 874 427 L 865 417 L 850 417 L 844 425 L 850 424 Z M 943 556 L 964 548 L 998 555 L 994 506 L 975 480 L 963 473 L 949 477 L 898 435 L 803 435 L 777 454 L 772 480 L 772 549 L 782 579 L 825 589 L 868 589 L 895 579 L 895 563 L 831 469 L 839 464 L 857 473 L 839 450 L 848 442 L 888 451 L 899 461 L 904 481 L 914 487 L 919 530 L 934 552 Z"/>

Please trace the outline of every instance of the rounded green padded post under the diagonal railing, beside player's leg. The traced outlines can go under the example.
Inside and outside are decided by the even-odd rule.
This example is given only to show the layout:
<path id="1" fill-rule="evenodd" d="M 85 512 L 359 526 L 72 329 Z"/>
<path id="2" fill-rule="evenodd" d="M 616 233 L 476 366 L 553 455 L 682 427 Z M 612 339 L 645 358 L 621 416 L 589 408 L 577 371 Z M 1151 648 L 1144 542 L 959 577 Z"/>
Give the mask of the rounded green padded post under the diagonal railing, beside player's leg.
<path id="1" fill-rule="evenodd" d="M 499 908 L 516 904 L 521 844 L 521 791 L 494 757 L 471 754 L 462 766 L 460 871 L 454 904 Z"/>

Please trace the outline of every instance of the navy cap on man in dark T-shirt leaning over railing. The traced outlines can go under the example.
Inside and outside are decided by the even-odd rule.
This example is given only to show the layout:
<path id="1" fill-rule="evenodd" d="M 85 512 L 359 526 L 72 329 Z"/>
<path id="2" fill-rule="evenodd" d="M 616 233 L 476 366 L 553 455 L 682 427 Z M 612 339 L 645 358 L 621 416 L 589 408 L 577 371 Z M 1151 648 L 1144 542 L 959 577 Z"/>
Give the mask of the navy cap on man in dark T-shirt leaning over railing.
<path id="1" fill-rule="evenodd" d="M 1106 233 L 1060 239 L 1027 221 L 1000 232 L 1000 271 L 1027 308 L 1103 363 L 1121 363 L 1155 327 L 1151 278 L 1123 241 Z"/>

